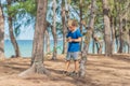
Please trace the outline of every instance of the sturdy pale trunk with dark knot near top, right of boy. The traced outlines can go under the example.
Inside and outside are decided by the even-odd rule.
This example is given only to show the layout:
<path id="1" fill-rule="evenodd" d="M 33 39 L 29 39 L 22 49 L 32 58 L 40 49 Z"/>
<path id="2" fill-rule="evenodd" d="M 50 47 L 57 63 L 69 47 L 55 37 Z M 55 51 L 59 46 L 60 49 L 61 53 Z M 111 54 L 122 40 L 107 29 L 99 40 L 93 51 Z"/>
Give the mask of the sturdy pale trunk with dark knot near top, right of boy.
<path id="1" fill-rule="evenodd" d="M 103 15 L 104 15 L 104 31 L 105 31 L 105 56 L 112 56 L 112 41 L 110 41 L 110 23 L 108 17 L 108 2 L 102 0 L 103 3 Z"/>

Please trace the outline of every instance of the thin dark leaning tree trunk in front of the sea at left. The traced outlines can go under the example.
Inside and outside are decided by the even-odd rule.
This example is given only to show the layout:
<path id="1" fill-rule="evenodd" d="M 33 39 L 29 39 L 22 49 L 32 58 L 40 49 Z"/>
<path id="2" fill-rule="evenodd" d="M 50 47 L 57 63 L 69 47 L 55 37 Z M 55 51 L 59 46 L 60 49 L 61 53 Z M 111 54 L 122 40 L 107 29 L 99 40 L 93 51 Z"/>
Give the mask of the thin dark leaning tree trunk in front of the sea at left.
<path id="1" fill-rule="evenodd" d="M 8 0 L 8 5 L 11 6 L 11 0 Z M 11 14 L 9 14 L 9 33 L 10 33 L 10 39 L 11 39 L 11 43 L 14 47 L 14 52 L 15 52 L 15 56 L 14 57 L 20 57 L 21 54 L 20 54 L 20 48 L 18 48 L 18 44 L 16 42 L 16 39 L 14 37 L 14 33 L 13 33 L 13 19 L 12 19 L 12 16 Z"/>

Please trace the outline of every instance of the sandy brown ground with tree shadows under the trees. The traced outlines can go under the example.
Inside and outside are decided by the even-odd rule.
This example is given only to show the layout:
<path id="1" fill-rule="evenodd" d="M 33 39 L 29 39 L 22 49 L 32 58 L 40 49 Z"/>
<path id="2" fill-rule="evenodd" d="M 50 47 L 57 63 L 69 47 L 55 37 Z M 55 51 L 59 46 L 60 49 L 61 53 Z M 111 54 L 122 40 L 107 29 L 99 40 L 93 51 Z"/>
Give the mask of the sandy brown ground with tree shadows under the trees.
<path id="1" fill-rule="evenodd" d="M 65 56 L 58 55 L 57 60 L 51 56 L 44 59 L 44 67 L 51 71 L 47 75 L 34 74 L 20 77 L 18 74 L 30 67 L 30 58 L 0 59 L 0 86 L 130 86 L 130 55 L 89 55 L 84 78 L 64 76 Z M 72 61 L 70 71 L 74 69 Z"/>

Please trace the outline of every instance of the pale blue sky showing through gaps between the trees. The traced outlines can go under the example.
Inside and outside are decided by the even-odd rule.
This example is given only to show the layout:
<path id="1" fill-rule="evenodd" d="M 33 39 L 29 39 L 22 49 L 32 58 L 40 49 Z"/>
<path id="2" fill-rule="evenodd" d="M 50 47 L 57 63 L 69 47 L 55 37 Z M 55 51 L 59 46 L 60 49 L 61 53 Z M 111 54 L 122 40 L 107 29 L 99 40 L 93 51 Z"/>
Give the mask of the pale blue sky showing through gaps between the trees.
<path id="1" fill-rule="evenodd" d="M 5 2 L 5 0 L 0 0 L 1 1 L 1 3 L 4 3 Z M 61 5 L 61 3 L 58 3 L 57 4 L 57 6 L 60 6 Z M 52 2 L 49 4 L 49 6 L 52 6 Z M 58 8 L 60 10 L 61 10 L 61 8 Z M 70 8 L 72 9 L 72 8 Z M 60 11 L 61 12 L 61 11 Z M 56 15 L 56 22 L 58 22 L 58 23 L 61 23 L 62 22 L 62 19 L 61 19 L 61 13 L 57 13 L 57 15 Z M 76 17 L 77 16 L 77 14 L 75 14 L 74 12 L 72 12 L 73 14 L 70 15 L 70 16 L 73 16 L 73 17 Z M 5 14 L 4 14 L 5 15 Z M 48 22 L 50 22 L 50 23 L 52 23 L 52 17 L 50 17 L 49 15 L 51 15 L 51 16 L 53 16 L 53 11 L 51 10 L 51 8 L 50 8 L 50 10 L 48 10 L 48 13 L 47 13 L 47 20 Z M 6 16 L 6 15 L 5 15 Z M 29 18 L 29 16 L 27 15 L 25 15 L 25 17 L 23 18 L 23 19 L 20 19 L 18 20 L 18 24 L 23 24 L 23 23 L 25 23 L 25 20 L 27 20 Z M 34 26 L 32 26 L 34 24 L 30 24 L 29 26 L 27 26 L 27 27 L 24 27 L 24 26 L 22 26 L 20 29 L 21 29 L 21 33 L 20 33 L 20 35 L 18 37 L 16 37 L 16 40 L 32 40 L 34 39 Z M 8 25 L 8 19 L 5 18 L 4 19 L 4 39 L 5 40 L 9 40 L 9 25 Z M 52 39 L 52 37 L 50 38 L 50 39 Z"/>

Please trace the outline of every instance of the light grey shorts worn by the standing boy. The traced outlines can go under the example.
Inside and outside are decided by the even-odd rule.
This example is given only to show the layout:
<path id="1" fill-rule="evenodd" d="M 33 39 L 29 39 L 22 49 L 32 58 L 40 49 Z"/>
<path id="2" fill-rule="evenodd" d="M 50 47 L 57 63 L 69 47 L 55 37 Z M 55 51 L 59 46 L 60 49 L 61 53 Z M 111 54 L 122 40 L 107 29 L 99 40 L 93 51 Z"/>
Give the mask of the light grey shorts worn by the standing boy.
<path id="1" fill-rule="evenodd" d="M 66 60 L 78 60 L 79 58 L 79 52 L 68 52 L 66 56 Z"/>

